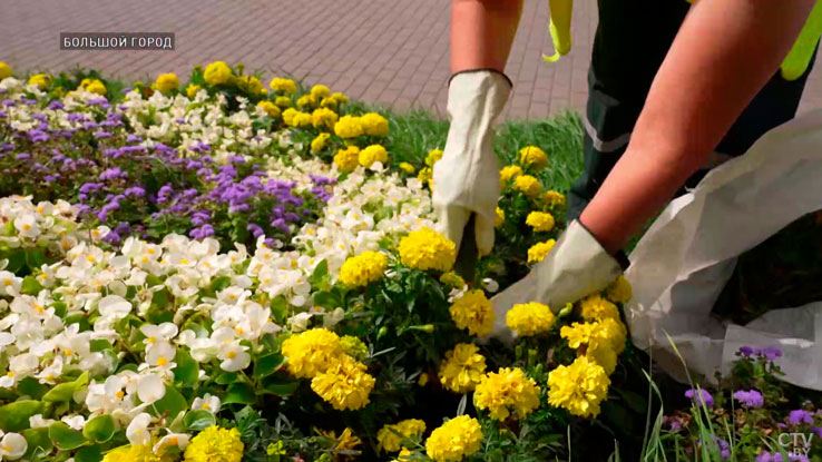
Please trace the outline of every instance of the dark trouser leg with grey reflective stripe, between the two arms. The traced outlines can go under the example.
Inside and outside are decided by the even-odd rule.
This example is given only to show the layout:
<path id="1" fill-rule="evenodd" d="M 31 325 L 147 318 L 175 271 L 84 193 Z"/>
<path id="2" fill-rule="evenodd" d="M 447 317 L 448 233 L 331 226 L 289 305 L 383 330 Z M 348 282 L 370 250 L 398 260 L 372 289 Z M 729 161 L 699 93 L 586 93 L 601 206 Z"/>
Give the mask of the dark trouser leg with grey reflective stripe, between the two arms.
<path id="1" fill-rule="evenodd" d="M 579 216 L 625 151 L 656 70 L 689 8 L 685 0 L 599 0 L 598 7 L 583 118 L 585 170 L 568 194 L 569 219 Z"/>

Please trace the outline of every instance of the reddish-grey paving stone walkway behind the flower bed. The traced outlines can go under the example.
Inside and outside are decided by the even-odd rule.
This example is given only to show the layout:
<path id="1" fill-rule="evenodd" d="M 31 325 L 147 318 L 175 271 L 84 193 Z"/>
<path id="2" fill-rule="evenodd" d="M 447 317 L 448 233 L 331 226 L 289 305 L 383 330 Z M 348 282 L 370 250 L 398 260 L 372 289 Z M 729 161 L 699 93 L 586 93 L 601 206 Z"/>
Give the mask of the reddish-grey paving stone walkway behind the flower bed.
<path id="1" fill-rule="evenodd" d="M 583 109 L 596 2 L 574 7 L 574 49 L 551 53 L 548 1 L 526 0 L 507 73 L 507 118 Z M 126 79 L 187 76 L 197 63 L 244 62 L 266 76 L 292 75 L 356 99 L 444 114 L 449 0 L 2 0 L 0 60 L 20 70 L 75 65 Z M 174 51 L 65 51 L 60 32 L 175 32 Z M 822 66 L 820 66 L 822 67 Z M 822 70 L 801 111 L 822 107 Z"/>

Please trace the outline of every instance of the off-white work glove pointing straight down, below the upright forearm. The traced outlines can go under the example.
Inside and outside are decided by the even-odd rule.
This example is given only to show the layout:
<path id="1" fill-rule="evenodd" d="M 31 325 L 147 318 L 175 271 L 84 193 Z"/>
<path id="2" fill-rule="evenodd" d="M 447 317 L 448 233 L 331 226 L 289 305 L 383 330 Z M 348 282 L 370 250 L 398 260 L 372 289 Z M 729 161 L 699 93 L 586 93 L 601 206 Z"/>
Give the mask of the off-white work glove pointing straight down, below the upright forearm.
<path id="1" fill-rule="evenodd" d="M 493 70 L 460 72 L 449 83 L 451 126 L 442 158 L 433 168 L 432 201 L 438 230 L 457 245 L 457 252 L 471 214 L 476 214 L 474 237 L 480 255 L 490 254 L 493 247 L 500 184 L 491 122 L 510 92 L 510 81 Z"/>

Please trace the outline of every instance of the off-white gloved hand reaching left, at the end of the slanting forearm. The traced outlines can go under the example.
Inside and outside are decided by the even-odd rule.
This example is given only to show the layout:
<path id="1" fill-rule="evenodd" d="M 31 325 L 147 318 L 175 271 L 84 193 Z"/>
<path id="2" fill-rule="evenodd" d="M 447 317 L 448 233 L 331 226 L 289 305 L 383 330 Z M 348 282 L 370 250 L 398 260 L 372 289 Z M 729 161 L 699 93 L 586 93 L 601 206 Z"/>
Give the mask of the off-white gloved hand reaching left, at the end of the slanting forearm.
<path id="1" fill-rule="evenodd" d="M 491 337 L 513 342 L 516 334 L 506 325 L 506 315 L 513 305 L 539 302 L 556 313 L 567 303 L 607 287 L 624 266 L 627 265 L 608 255 L 585 226 L 571 222 L 542 262 L 491 298 L 495 314 Z"/>

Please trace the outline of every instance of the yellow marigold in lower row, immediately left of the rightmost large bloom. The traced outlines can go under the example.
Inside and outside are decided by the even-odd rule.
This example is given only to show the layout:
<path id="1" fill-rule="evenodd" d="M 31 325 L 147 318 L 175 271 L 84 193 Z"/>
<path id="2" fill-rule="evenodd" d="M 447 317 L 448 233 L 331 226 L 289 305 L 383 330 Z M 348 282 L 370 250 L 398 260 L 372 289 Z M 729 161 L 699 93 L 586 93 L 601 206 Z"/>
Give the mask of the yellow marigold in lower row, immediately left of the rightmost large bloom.
<path id="1" fill-rule="evenodd" d="M 508 419 L 511 411 L 523 419 L 539 407 L 539 386 L 521 368 L 502 367 L 482 377 L 473 392 L 473 404 L 498 421 Z"/>

